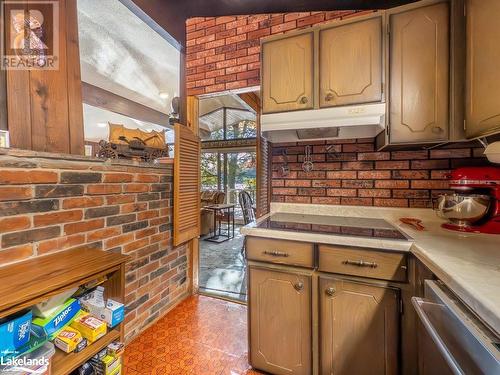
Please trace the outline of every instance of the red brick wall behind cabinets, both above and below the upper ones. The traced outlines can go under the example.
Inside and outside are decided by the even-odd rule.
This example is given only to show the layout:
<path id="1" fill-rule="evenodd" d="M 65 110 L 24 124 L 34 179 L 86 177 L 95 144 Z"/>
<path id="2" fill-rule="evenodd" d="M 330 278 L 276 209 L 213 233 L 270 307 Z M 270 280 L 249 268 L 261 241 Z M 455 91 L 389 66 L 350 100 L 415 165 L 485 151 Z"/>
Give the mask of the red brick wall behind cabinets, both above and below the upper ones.
<path id="1" fill-rule="evenodd" d="M 368 11 L 369 12 L 369 11 Z M 188 95 L 222 92 L 260 84 L 260 38 L 364 12 L 310 12 L 193 18 L 186 23 Z M 302 171 L 304 146 L 313 145 L 315 169 Z M 461 165 L 486 164 L 482 149 L 375 152 L 373 139 L 334 143 L 275 144 L 272 148 L 272 201 L 429 207 L 445 192 L 444 176 Z M 278 169 L 288 152 L 291 172 Z"/>

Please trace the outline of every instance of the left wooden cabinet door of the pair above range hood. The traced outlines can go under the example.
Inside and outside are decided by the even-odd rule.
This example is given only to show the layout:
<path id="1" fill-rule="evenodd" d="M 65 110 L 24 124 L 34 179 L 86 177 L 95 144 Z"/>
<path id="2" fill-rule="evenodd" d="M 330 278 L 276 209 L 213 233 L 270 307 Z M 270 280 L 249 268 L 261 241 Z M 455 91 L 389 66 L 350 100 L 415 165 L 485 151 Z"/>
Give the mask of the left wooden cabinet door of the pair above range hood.
<path id="1" fill-rule="evenodd" d="M 263 113 L 313 108 L 313 47 L 312 32 L 262 45 Z"/>

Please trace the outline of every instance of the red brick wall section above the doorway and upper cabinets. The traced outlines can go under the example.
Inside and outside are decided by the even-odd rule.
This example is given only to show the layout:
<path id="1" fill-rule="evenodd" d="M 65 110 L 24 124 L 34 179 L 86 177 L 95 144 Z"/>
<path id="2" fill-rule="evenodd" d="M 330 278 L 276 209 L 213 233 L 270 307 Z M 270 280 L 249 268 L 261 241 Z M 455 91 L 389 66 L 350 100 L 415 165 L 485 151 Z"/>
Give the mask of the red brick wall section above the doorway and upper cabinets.
<path id="1" fill-rule="evenodd" d="M 186 22 L 187 95 L 258 86 L 260 38 L 362 13 L 367 11 L 191 18 Z"/>

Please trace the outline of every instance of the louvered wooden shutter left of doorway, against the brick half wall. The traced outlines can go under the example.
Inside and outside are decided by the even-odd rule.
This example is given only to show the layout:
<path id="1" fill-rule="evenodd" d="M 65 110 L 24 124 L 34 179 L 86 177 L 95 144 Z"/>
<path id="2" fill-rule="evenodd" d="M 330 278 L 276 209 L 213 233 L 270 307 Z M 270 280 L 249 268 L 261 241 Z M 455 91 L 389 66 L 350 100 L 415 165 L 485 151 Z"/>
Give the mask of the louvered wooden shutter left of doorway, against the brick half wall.
<path id="1" fill-rule="evenodd" d="M 174 245 L 200 235 L 200 139 L 184 125 L 175 125 Z"/>

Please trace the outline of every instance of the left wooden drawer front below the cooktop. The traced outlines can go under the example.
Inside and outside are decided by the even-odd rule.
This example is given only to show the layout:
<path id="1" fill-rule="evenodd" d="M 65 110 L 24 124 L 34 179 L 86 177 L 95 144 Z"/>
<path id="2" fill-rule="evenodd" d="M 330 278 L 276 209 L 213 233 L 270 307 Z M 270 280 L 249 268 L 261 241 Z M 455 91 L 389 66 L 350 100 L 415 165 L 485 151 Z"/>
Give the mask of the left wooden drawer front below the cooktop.
<path id="1" fill-rule="evenodd" d="M 245 246 L 249 260 L 314 267 L 312 243 L 247 237 Z"/>

